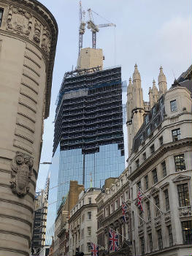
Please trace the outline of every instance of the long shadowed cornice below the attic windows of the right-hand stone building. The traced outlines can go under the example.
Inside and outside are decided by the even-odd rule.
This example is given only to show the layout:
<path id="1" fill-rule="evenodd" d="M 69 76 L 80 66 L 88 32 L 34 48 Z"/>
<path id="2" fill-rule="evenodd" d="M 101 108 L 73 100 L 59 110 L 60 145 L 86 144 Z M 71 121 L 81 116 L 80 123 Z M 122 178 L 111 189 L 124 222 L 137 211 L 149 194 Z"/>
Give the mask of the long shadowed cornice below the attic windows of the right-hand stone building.
<path id="1" fill-rule="evenodd" d="M 183 146 L 191 146 L 192 145 L 192 138 L 185 138 L 182 140 L 177 140 L 171 143 L 166 143 L 160 148 L 158 148 L 155 153 L 147 158 L 145 162 L 142 163 L 136 170 L 134 170 L 133 173 L 131 173 L 128 176 L 128 180 L 134 181 L 135 178 L 137 178 L 140 174 L 142 174 L 150 165 L 153 165 L 153 163 L 159 159 L 161 156 L 163 156 L 166 152 L 176 149 L 176 148 L 181 148 Z"/>

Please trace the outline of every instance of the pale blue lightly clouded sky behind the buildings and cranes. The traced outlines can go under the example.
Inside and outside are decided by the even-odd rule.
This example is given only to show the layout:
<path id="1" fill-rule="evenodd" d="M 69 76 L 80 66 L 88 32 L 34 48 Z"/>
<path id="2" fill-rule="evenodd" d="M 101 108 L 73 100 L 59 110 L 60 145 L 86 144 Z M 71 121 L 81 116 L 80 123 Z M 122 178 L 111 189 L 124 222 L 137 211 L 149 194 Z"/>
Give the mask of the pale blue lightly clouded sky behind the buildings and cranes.
<path id="1" fill-rule="evenodd" d="M 76 67 L 78 55 L 79 0 L 39 0 L 58 23 L 58 44 L 53 69 L 50 116 L 45 120 L 41 162 L 51 162 L 55 101 L 64 73 Z M 132 77 L 137 63 L 144 92 L 153 78 L 158 85 L 159 67 L 164 68 L 168 89 L 191 65 L 190 0 L 82 0 L 82 9 L 91 8 L 96 24 L 115 23 L 101 28 L 97 48 L 105 56 L 104 67 L 121 65 L 122 80 Z M 86 17 L 88 18 L 88 16 Z M 91 31 L 86 29 L 83 48 L 91 47 Z M 40 165 L 37 190 L 45 187 L 49 165 Z"/>

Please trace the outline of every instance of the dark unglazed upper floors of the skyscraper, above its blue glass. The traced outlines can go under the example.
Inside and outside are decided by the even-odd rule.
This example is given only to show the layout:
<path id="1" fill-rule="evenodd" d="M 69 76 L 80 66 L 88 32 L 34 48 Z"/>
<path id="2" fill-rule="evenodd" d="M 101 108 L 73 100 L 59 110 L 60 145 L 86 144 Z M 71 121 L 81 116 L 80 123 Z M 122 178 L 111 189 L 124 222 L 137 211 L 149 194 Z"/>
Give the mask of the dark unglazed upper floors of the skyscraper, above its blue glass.
<path id="1" fill-rule="evenodd" d="M 100 67 L 66 72 L 58 95 L 53 154 L 82 148 L 82 154 L 99 152 L 99 146 L 118 143 L 123 148 L 121 68 Z"/>

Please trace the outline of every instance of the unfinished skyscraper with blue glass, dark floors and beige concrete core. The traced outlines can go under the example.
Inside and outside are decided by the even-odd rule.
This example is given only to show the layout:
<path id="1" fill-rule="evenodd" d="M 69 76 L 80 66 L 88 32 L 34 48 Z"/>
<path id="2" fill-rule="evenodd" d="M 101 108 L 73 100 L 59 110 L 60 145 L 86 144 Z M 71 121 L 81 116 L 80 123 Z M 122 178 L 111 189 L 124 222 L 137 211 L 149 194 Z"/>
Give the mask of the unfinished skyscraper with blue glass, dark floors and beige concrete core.
<path id="1" fill-rule="evenodd" d="M 121 68 L 103 69 L 101 49 L 80 51 L 66 72 L 55 113 L 53 156 L 59 151 L 57 208 L 70 180 L 101 187 L 124 169 Z M 59 147 L 59 148 L 58 148 Z"/>

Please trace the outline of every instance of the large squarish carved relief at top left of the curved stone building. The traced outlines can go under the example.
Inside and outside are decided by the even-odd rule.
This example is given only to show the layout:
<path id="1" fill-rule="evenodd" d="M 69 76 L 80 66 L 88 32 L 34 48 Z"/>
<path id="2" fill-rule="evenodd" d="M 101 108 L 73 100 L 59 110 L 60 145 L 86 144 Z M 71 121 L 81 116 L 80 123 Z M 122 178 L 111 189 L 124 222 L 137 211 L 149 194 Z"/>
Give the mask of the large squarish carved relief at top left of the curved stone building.
<path id="1" fill-rule="evenodd" d="M 22 8 L 10 6 L 7 16 L 7 30 L 29 37 L 32 26 L 32 17 L 30 12 L 27 12 Z"/>

